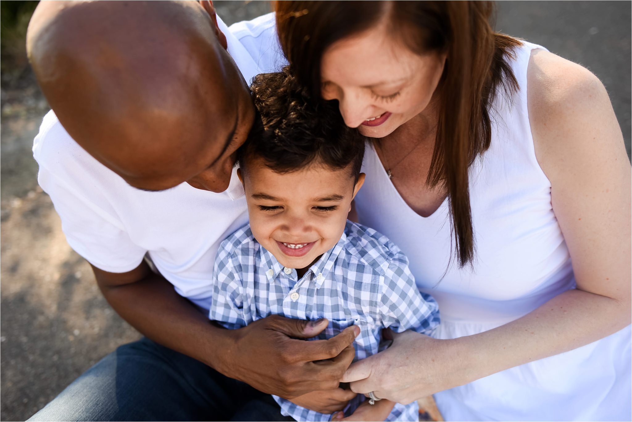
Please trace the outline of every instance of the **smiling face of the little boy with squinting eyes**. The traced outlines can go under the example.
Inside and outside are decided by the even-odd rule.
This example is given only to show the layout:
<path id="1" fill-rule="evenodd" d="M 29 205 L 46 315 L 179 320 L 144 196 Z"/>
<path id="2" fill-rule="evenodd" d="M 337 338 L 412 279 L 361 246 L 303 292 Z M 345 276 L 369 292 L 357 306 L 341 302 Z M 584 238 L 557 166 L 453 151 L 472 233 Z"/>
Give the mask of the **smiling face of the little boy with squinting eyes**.
<path id="1" fill-rule="evenodd" d="M 244 183 L 250 229 L 258 243 L 288 268 L 305 268 L 341 238 L 351 200 L 364 181 L 351 169 L 319 164 L 279 174 L 250 159 Z"/>

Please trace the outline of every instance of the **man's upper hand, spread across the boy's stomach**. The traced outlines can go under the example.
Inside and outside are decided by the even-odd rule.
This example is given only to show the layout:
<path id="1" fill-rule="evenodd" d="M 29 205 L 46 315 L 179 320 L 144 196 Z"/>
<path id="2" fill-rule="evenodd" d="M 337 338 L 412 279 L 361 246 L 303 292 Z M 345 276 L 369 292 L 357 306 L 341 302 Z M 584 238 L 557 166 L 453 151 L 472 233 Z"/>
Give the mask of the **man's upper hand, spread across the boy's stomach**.
<path id="1" fill-rule="evenodd" d="M 360 327 L 348 327 L 328 340 L 291 338 L 309 339 L 325 327 L 325 318 L 310 322 L 270 315 L 232 330 L 233 344 L 215 368 L 257 390 L 286 399 L 314 390 L 337 389 L 355 356 L 351 344 L 360 334 Z"/>

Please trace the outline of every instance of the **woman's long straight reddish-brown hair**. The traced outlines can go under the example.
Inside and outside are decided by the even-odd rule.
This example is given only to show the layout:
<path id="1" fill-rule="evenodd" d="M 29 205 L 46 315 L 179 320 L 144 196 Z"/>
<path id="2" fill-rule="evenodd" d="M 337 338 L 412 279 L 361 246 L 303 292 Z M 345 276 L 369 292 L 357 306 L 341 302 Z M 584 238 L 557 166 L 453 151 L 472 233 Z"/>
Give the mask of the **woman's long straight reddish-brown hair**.
<path id="1" fill-rule="evenodd" d="M 412 51 L 447 53 L 439 83 L 439 126 L 428 172 L 430 187 L 449 198 L 456 257 L 474 258 L 468 168 L 489 148 L 494 97 L 518 90 L 507 57 L 520 40 L 496 33 L 490 1 L 276 1 L 281 47 L 296 78 L 320 98 L 320 59 L 337 40 L 388 18 L 391 33 Z"/>

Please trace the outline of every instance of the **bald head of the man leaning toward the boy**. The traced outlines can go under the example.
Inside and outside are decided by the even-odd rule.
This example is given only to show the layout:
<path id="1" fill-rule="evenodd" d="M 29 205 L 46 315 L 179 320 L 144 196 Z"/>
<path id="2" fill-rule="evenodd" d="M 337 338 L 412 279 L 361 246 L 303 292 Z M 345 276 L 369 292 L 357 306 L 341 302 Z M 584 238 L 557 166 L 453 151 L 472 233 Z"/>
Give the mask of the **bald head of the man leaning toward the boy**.
<path id="1" fill-rule="evenodd" d="M 64 128 L 132 186 L 228 187 L 254 111 L 210 2 L 42 2 L 27 50 Z"/>

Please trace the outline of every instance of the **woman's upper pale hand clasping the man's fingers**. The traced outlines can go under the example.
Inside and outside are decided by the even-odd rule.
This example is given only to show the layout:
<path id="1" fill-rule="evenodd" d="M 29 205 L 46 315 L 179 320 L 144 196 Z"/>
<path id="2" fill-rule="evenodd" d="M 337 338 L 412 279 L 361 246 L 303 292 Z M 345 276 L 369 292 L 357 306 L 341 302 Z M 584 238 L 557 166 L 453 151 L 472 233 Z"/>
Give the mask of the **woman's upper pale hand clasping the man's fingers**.
<path id="1" fill-rule="evenodd" d="M 351 390 L 409 404 L 475 379 L 467 355 L 459 353 L 460 339 L 437 340 L 410 330 L 392 337 L 391 347 L 349 366 L 343 382 L 351 382 Z"/>

